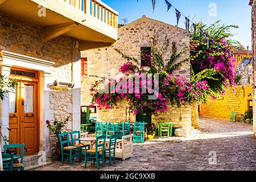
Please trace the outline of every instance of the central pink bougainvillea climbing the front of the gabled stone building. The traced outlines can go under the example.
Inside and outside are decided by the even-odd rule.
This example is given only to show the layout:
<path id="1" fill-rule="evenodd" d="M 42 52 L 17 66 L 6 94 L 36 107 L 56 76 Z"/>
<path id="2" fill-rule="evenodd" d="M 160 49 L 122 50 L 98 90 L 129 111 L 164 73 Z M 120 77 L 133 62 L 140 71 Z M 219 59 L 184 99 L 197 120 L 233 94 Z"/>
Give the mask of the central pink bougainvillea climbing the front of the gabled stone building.
<path id="1" fill-rule="evenodd" d="M 134 114 L 147 113 L 159 114 L 168 111 L 168 105 L 186 105 L 192 102 L 200 102 L 207 99 L 210 90 L 207 81 L 203 77 L 193 77 L 189 79 L 185 76 L 175 77 L 172 72 L 188 59 L 177 61 L 183 56 L 183 50 L 177 53 L 176 43 L 172 43 L 170 59 L 167 63 L 163 61 L 163 52 L 168 47 L 168 40 L 162 47 L 156 45 L 158 36 L 152 38 L 151 64 L 147 69 L 141 67 L 138 60 L 131 59 L 122 54 L 127 59 L 119 69 L 123 76 L 118 80 L 113 78 L 101 78 L 90 88 L 93 96 L 92 105 L 97 105 L 98 109 L 118 109 L 117 103 L 126 100 Z M 133 60 L 133 62 L 131 62 Z M 142 79 L 152 75 L 152 79 Z M 134 79 L 131 79 L 134 77 Z M 157 79 L 156 79 L 157 77 Z M 208 75 L 208 77 L 210 77 Z M 137 86 L 136 86 L 137 85 Z M 129 89 L 131 86 L 132 89 Z M 157 90 L 155 88 L 158 88 Z M 114 89 L 114 90 L 113 90 Z M 143 92 L 144 90 L 144 92 Z M 113 92 L 114 91 L 114 92 Z M 149 96 L 156 97 L 150 99 Z"/>

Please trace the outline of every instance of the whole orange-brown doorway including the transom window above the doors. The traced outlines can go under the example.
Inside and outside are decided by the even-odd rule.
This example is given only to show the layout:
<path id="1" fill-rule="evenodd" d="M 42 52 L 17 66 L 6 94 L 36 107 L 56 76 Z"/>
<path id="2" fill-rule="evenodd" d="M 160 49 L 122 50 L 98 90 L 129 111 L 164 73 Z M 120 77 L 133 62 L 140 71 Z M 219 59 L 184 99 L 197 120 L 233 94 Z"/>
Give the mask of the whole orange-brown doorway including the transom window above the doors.
<path id="1" fill-rule="evenodd" d="M 9 96 L 10 143 L 24 143 L 25 154 L 38 152 L 38 72 L 11 68 L 18 80 Z"/>

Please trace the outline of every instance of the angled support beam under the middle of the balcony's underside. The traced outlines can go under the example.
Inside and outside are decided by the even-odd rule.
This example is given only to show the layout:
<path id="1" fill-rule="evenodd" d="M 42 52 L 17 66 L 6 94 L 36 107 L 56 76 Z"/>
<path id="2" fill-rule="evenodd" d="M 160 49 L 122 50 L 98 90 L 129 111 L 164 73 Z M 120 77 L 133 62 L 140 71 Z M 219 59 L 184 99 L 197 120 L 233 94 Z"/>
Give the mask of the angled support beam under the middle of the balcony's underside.
<path id="1" fill-rule="evenodd" d="M 72 22 L 72 23 L 57 24 L 56 26 L 51 26 L 51 27 L 45 27 L 44 41 L 47 42 L 51 39 L 56 38 L 57 36 L 63 35 L 66 32 L 72 30 L 72 28 L 75 28 L 77 26 L 79 26 L 79 23 Z"/>

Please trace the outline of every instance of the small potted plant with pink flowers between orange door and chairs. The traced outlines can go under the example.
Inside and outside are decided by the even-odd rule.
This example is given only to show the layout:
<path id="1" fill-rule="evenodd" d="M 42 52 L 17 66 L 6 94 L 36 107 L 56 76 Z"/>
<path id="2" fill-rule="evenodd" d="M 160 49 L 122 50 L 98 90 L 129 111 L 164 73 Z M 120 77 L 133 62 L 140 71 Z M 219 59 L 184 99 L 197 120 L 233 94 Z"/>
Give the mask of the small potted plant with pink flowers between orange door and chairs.
<path id="1" fill-rule="evenodd" d="M 49 131 L 51 131 L 55 135 L 55 138 L 56 138 L 55 154 L 59 157 L 59 159 L 61 159 L 61 149 L 60 149 L 60 141 L 59 141 L 58 134 L 62 133 L 64 127 L 67 125 L 69 121 L 69 118 L 70 116 L 68 116 L 64 121 L 54 121 L 53 123 L 51 123 L 49 120 L 46 121 Z"/>

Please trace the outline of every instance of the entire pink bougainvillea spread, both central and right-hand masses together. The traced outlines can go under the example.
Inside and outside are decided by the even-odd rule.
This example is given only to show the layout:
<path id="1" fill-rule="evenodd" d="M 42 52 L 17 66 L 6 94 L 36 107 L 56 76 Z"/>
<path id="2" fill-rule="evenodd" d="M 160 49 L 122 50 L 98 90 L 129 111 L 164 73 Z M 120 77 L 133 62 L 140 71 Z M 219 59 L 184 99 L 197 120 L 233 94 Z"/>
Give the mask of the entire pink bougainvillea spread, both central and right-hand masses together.
<path id="1" fill-rule="evenodd" d="M 226 87 L 235 85 L 232 53 L 240 44 L 229 40 L 232 36 L 229 30 L 236 26 L 218 26 L 218 23 L 210 27 L 203 23 L 197 24 L 204 32 L 208 31 L 212 43 L 199 32 L 193 37 L 191 30 L 191 56 L 181 61 L 178 61 L 179 58 L 189 50 L 184 48 L 177 52 L 176 43 L 172 42 L 170 59 L 164 62 L 163 55 L 166 54 L 170 41 L 166 36 L 163 45 L 158 46 L 157 34 L 150 41 L 151 55 L 142 55 L 143 59 L 148 60 L 146 69 L 141 67 L 137 59 L 115 49 L 127 59 L 127 63 L 119 69 L 123 76 L 117 80 L 101 78 L 93 84 L 90 88 L 93 96 L 90 107 L 97 105 L 100 110 L 118 109 L 118 101 L 126 100 L 134 114 L 158 115 L 168 111 L 169 105 L 180 107 L 195 102 L 206 102 L 209 96 L 214 98 L 218 94 L 223 94 Z M 188 61 L 191 62 L 191 78 L 182 75 L 175 77 L 174 70 Z M 151 75 L 152 79 L 145 79 L 148 75 Z M 150 99 L 153 95 L 155 98 Z"/>

